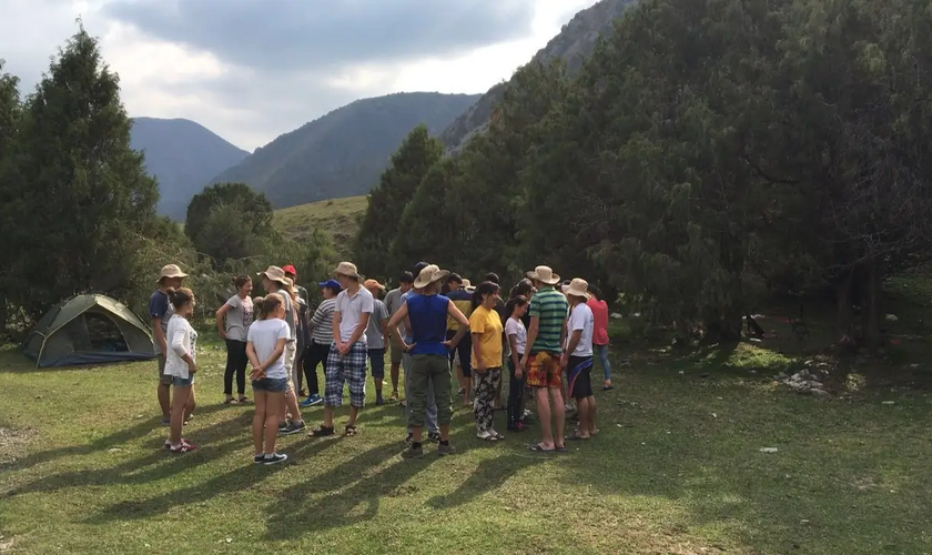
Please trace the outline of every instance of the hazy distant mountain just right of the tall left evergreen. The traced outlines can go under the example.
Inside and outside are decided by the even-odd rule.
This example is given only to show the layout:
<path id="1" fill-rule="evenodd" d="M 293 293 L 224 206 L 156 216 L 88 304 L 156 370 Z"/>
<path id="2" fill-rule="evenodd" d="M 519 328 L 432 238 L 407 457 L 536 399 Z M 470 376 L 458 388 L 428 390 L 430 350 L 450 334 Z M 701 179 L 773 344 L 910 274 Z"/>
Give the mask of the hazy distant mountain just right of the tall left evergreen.
<path id="1" fill-rule="evenodd" d="M 211 178 L 250 154 L 182 119 L 134 118 L 130 145 L 145 153 L 145 169 L 159 180 L 159 213 L 178 221 Z"/>

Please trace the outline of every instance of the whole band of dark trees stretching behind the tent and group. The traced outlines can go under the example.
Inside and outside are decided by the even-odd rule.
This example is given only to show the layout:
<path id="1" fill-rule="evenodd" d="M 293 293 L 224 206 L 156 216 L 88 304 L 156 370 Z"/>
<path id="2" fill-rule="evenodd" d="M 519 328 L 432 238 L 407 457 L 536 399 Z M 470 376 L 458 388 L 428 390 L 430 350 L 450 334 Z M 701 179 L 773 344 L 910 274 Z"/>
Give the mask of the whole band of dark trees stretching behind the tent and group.
<path id="1" fill-rule="evenodd" d="M 77 291 L 141 307 L 169 262 L 212 299 L 233 273 L 292 262 L 310 283 L 352 255 L 388 280 L 419 260 L 509 284 L 548 264 L 683 340 L 735 339 L 774 295 L 828 297 L 839 341 L 877 345 L 883 280 L 932 241 L 930 41 L 908 0 L 640 2 L 571 74 L 519 69 L 455 157 L 412 130 L 343 244 L 282 236 L 241 183 L 195 196 L 183 231 L 156 216 L 82 29 L 31 94 L 0 82 L 4 329 Z"/>

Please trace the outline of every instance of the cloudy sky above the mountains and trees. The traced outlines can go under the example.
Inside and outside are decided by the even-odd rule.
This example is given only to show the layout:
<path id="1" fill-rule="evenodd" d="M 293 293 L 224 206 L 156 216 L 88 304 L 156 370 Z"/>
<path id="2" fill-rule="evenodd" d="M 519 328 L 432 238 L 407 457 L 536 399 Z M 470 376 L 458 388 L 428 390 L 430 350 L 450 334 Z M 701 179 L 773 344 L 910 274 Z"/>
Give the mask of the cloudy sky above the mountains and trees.
<path id="1" fill-rule="evenodd" d="M 252 151 L 353 100 L 485 92 L 596 0 L 0 0 L 29 92 L 78 30 L 130 115 L 188 118 Z"/>

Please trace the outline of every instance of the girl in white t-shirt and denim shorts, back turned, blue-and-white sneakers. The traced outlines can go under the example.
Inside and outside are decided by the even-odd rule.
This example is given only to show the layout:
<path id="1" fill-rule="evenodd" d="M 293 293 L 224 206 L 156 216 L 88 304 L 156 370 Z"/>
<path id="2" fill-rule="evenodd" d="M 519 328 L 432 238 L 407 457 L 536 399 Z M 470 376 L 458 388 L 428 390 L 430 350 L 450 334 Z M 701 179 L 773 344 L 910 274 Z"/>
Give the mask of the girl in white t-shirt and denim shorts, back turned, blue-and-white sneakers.
<path id="1" fill-rule="evenodd" d="M 250 325 L 246 336 L 246 356 L 252 364 L 250 380 L 255 402 L 253 461 L 256 464 L 271 465 L 287 460 L 287 455 L 275 452 L 278 415 L 285 406 L 285 393 L 288 390 L 285 350 L 291 330 L 284 321 L 283 294 L 270 293 L 265 299 L 256 300 L 260 320 Z"/>

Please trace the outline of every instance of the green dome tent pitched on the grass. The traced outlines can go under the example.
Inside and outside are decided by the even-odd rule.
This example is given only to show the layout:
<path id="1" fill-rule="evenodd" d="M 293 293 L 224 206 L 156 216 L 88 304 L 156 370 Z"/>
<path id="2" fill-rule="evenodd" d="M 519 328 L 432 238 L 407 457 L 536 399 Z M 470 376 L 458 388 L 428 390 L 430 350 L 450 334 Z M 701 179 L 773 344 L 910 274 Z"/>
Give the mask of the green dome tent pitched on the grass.
<path id="1" fill-rule="evenodd" d="M 22 352 L 40 369 L 155 357 L 142 320 L 125 304 L 99 294 L 73 296 L 45 313 Z"/>

